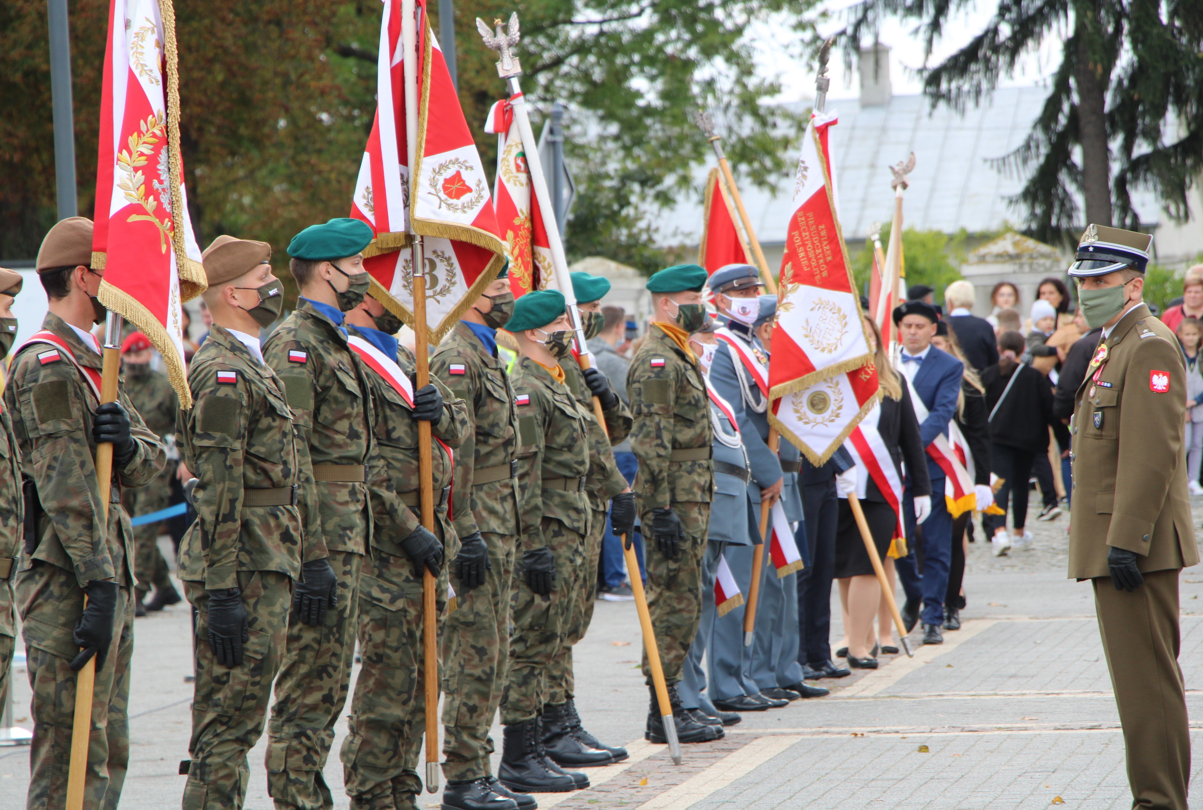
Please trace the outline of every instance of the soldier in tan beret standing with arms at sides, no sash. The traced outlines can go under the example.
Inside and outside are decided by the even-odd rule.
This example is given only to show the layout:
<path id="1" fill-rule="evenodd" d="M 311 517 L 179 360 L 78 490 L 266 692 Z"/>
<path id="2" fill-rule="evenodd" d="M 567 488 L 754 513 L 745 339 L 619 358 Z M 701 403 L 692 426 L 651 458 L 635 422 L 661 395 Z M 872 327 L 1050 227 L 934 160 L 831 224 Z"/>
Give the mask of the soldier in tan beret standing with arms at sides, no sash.
<path id="1" fill-rule="evenodd" d="M 213 327 L 188 369 L 195 405 L 178 417 L 184 463 L 198 476 L 196 520 L 179 553 L 179 578 L 197 611 L 184 810 L 242 808 L 247 754 L 263 732 L 284 660 L 292 583 L 304 565 L 310 592 L 298 588 L 301 617 L 320 624 L 327 601 L 312 591 L 324 578 L 328 595 L 334 579 L 309 448 L 259 345 L 260 326 L 284 302 L 271 255 L 263 242 L 227 236 L 203 255 Z M 325 570 L 315 573 L 319 564 Z"/>

